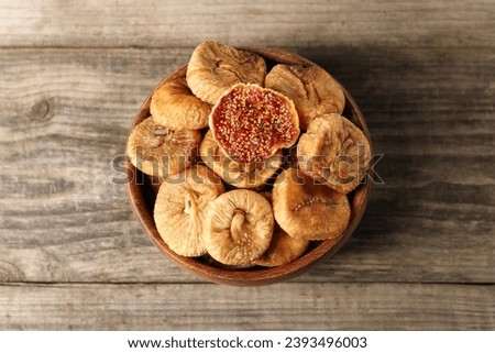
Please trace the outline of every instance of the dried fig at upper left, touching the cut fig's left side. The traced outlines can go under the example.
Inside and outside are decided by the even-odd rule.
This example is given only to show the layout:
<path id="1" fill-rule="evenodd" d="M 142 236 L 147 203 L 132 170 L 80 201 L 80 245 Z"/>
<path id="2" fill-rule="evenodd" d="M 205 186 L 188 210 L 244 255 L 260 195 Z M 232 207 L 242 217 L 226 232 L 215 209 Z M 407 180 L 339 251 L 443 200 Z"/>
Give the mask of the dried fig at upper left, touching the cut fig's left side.
<path id="1" fill-rule="evenodd" d="M 198 130 L 208 126 L 211 106 L 197 98 L 183 79 L 167 80 L 153 93 L 150 112 L 161 125 Z"/>

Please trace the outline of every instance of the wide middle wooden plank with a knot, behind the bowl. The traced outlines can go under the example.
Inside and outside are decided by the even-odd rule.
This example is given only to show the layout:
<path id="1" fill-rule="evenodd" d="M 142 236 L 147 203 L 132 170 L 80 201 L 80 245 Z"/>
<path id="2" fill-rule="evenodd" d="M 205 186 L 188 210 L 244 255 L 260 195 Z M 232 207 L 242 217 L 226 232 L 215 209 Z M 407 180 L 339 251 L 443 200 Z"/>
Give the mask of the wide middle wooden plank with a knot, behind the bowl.
<path id="1" fill-rule="evenodd" d="M 199 280 L 110 183 L 139 106 L 190 49 L 0 49 L 0 282 Z M 290 49 L 350 88 L 385 154 L 355 236 L 296 282 L 494 283 L 493 51 Z"/>

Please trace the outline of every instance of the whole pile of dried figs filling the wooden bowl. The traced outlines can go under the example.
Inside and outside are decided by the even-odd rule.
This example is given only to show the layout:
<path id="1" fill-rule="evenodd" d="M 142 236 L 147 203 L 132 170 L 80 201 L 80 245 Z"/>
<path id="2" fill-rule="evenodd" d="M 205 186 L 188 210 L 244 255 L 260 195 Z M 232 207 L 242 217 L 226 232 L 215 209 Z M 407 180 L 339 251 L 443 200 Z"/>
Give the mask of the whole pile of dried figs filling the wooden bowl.
<path id="1" fill-rule="evenodd" d="M 153 93 L 128 156 L 160 181 L 156 229 L 172 251 L 229 268 L 274 267 L 345 231 L 371 159 L 315 65 L 267 65 L 216 42 Z"/>

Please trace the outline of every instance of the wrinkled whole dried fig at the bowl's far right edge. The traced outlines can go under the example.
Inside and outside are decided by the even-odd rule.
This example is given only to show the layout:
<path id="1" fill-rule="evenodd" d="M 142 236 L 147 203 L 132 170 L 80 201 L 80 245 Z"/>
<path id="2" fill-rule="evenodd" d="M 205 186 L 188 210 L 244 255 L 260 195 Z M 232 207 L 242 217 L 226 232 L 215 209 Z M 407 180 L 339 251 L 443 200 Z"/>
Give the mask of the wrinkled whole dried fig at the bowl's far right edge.
<path id="1" fill-rule="evenodd" d="M 316 118 L 301 134 L 297 157 L 302 173 L 348 194 L 366 175 L 371 147 L 364 133 L 350 120 L 324 114 Z"/>

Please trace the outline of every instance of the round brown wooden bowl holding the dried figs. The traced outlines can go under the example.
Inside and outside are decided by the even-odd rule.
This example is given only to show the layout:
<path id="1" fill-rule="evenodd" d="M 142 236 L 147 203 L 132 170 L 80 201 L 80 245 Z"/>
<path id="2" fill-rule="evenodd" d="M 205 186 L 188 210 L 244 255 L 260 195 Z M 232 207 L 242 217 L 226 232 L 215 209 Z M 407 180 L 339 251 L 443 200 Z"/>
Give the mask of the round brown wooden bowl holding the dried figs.
<path id="1" fill-rule="evenodd" d="M 268 69 L 277 63 L 316 65 L 304 57 L 277 49 L 264 47 L 248 47 L 244 49 L 257 53 L 258 55 L 263 56 L 266 59 Z M 157 87 L 160 87 L 164 81 L 168 79 L 175 79 L 185 75 L 186 69 L 187 64 L 177 68 L 166 78 L 164 78 Z M 150 102 L 152 95 L 153 92 L 146 98 L 140 111 L 138 112 L 138 115 L 135 117 L 134 122 L 131 126 L 131 131 L 136 124 L 139 124 L 150 115 Z M 363 114 L 352 99 L 351 95 L 349 95 L 345 89 L 344 95 L 345 109 L 343 115 L 350 119 L 364 132 L 371 144 L 370 132 L 366 128 Z M 312 242 L 302 256 L 283 266 L 271 268 L 256 266 L 246 269 L 230 269 L 216 265 L 202 257 L 185 257 L 174 253 L 160 236 L 158 231 L 155 227 L 155 222 L 153 220 L 153 208 L 157 191 L 156 186 L 152 184 L 150 177 L 143 175 L 140 170 L 138 170 L 129 162 L 129 158 L 127 158 L 127 188 L 132 210 L 134 211 L 144 233 L 147 235 L 151 242 L 166 257 L 168 257 L 178 266 L 188 271 L 189 273 L 213 283 L 238 286 L 266 285 L 286 280 L 307 271 L 310 266 L 317 264 L 322 258 L 334 254 L 348 241 L 348 239 L 351 236 L 359 222 L 361 221 L 361 218 L 366 208 L 372 186 L 371 178 L 366 178 L 366 181 L 364 184 L 360 184 L 359 187 L 349 195 L 349 201 L 351 205 L 351 220 L 345 232 L 337 240 Z"/>

